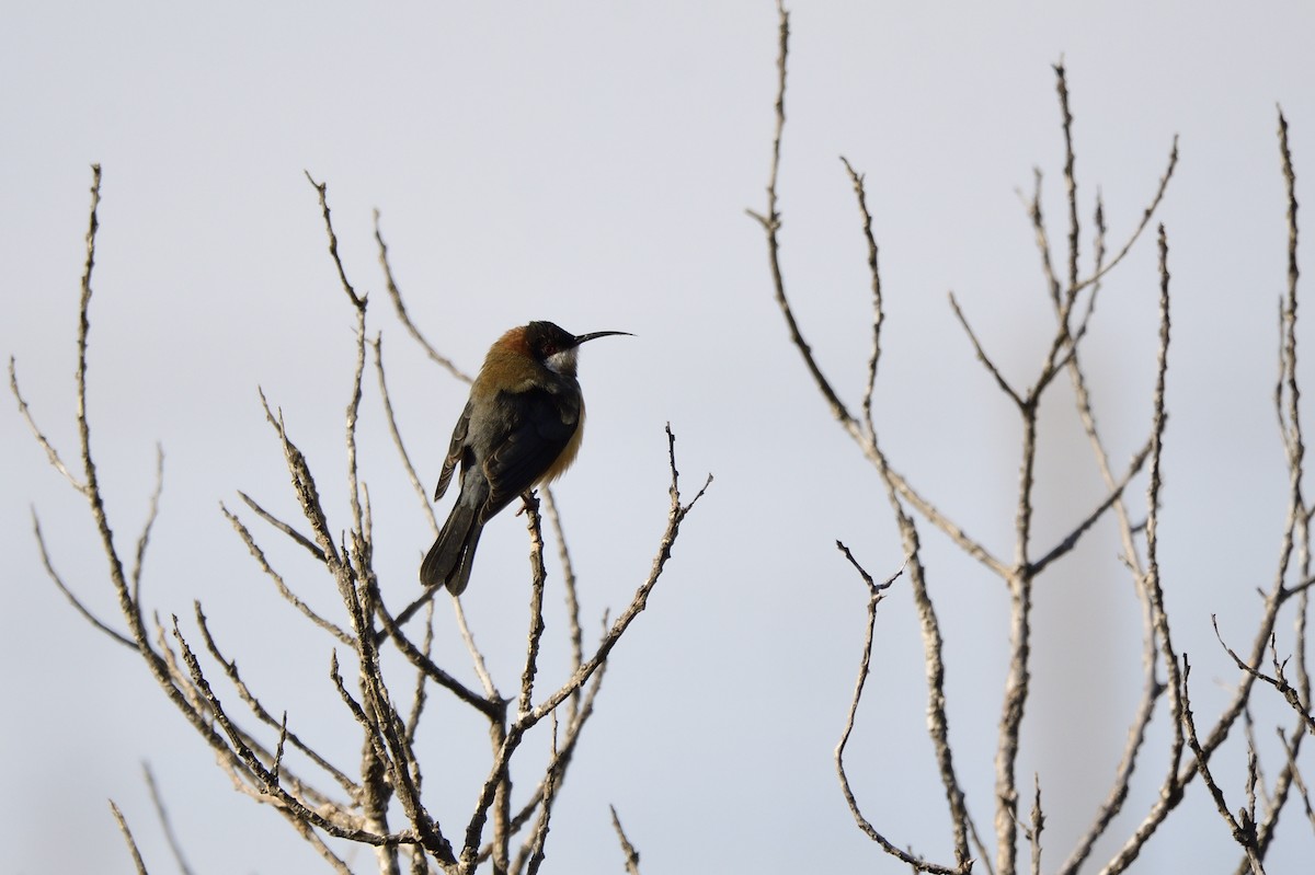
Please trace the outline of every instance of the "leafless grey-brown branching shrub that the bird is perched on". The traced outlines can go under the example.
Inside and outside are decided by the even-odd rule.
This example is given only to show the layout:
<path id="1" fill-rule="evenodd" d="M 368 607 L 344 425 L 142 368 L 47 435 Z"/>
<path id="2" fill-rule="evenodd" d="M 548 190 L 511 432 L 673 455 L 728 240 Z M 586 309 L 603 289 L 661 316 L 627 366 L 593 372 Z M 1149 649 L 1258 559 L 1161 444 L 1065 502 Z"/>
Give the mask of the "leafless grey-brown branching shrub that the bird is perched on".
<path id="1" fill-rule="evenodd" d="M 398 629 L 397 623 L 389 617 L 388 612 L 380 603 L 379 582 L 373 569 L 375 541 L 371 493 L 364 481 L 359 478 L 362 472 L 358 468 L 359 448 L 356 430 L 358 427 L 363 427 L 359 422 L 359 416 L 362 413 L 362 399 L 364 394 L 363 377 L 367 357 L 367 296 L 358 294 L 352 288 L 339 258 L 338 239 L 330 219 L 326 187 L 316 183 L 309 175 L 308 180 L 318 192 L 325 231 L 329 238 L 330 256 L 333 258 L 343 290 L 354 306 L 356 315 L 355 367 L 352 370 L 351 394 L 346 409 L 346 478 L 348 487 L 347 498 L 350 501 L 352 519 L 350 528 L 346 531 L 339 531 L 330 524 L 325 503 L 321 501 L 321 494 L 318 491 L 316 478 L 312 474 L 312 468 L 306 456 L 291 439 L 288 427 L 283 420 L 281 411 L 276 414 L 263 394 L 260 397 L 262 405 L 267 419 L 279 435 L 296 499 L 304 518 L 308 522 L 308 531 L 305 533 L 297 531 L 292 524 L 285 523 L 266 511 L 249 495 L 241 494 L 241 497 L 258 516 L 267 520 L 271 526 L 288 536 L 295 544 L 306 549 L 316 562 L 329 573 L 337 586 L 338 595 L 343 602 L 350 621 L 347 624 L 338 625 L 310 610 L 291 591 L 284 582 L 284 578 L 272 569 L 266 553 L 256 544 L 255 537 L 251 531 L 247 529 L 243 520 L 241 520 L 237 514 L 230 512 L 224 505 L 221 505 L 221 511 L 247 545 L 260 570 L 268 574 L 275 582 L 279 593 L 287 598 L 289 603 L 292 603 L 304 616 L 310 619 L 322 629 L 327 631 L 343 645 L 350 646 L 355 653 L 359 670 L 359 677 L 355 678 L 355 681 L 359 683 L 359 688 L 354 688 L 348 692 L 348 687 L 343 683 L 343 679 L 337 669 L 337 654 L 331 675 L 335 688 L 339 691 L 343 702 L 347 703 L 352 719 L 360 727 L 364 737 L 360 780 L 358 782 L 348 778 L 346 773 L 330 765 L 329 761 L 318 754 L 302 736 L 291 730 L 287 709 L 280 711 L 272 707 L 267 708 L 256 694 L 247 687 L 242 673 L 238 670 L 237 660 L 229 658 L 221 652 L 216 637 L 212 635 L 206 616 L 201 611 L 200 603 L 196 603 L 195 610 L 196 623 L 204 639 L 204 645 L 209 650 L 210 657 L 218 662 L 224 677 L 229 683 L 231 683 L 230 690 L 235 690 L 237 695 L 255 715 L 255 720 L 251 721 L 256 730 L 255 733 L 249 732 L 239 725 L 238 720 L 234 719 L 234 716 L 227 712 L 224 703 L 221 703 L 220 694 L 212 684 L 213 679 L 208 678 L 205 674 L 208 669 L 203 670 L 201 660 L 199 658 L 199 654 L 192 650 L 191 644 L 184 639 L 178 617 L 175 616 L 172 619 L 172 636 L 170 636 L 160 623 L 158 614 L 147 616 L 142 610 L 141 586 L 143 578 L 145 554 L 147 547 L 150 545 L 151 533 L 154 531 L 154 524 L 159 518 L 160 508 L 163 453 L 159 452 L 159 449 L 156 453 L 156 483 L 150 498 L 146 523 L 137 537 L 134 554 L 135 561 L 132 562 L 130 572 L 125 573 L 125 562 L 121 558 L 122 554 L 116 550 L 113 533 L 105 512 L 104 497 L 100 491 L 96 468 L 92 462 L 91 427 L 87 420 L 88 311 L 92 293 L 91 276 L 95 264 L 95 233 L 97 227 L 96 209 L 100 196 L 99 167 L 95 168 L 95 185 L 92 188 L 91 230 L 87 236 L 87 267 L 82 284 L 83 294 L 78 331 L 79 360 L 76 424 L 82 451 L 82 464 L 85 472 L 85 480 L 83 482 L 78 482 L 68 473 L 68 469 L 63 466 L 63 462 L 59 455 L 54 451 L 54 447 L 49 440 L 46 440 L 45 435 L 32 420 L 30 411 L 26 407 L 26 401 L 18 390 L 16 365 L 13 361 L 11 361 L 11 386 L 14 397 L 18 399 L 20 413 L 29 420 L 38 444 L 47 451 L 51 464 L 64 473 L 66 478 L 88 499 L 88 503 L 91 505 L 92 516 L 99 529 L 99 544 L 110 564 L 109 577 L 118 599 L 120 612 L 129 627 L 128 633 L 116 632 L 108 624 L 97 620 L 82 606 L 79 599 L 72 595 L 68 587 L 63 585 L 63 581 L 54 572 L 50 562 L 39 523 L 34 515 L 34 529 L 38 544 L 41 545 L 42 560 L 47 566 L 51 579 L 55 581 L 57 586 L 70 598 L 75 608 L 79 610 L 88 619 L 88 621 L 114 637 L 121 644 L 134 648 L 142 656 L 162 690 L 184 713 L 192 727 L 213 750 L 221 770 L 230 776 L 234 787 L 251 799 L 255 799 L 262 804 L 268 804 L 271 809 L 276 811 L 280 817 L 289 822 L 299 832 L 299 834 L 301 834 L 302 838 L 305 838 L 317 850 L 317 853 L 321 854 L 330 867 L 338 872 L 347 872 L 350 868 L 343 859 L 327 847 L 326 842 L 331 840 L 363 843 L 375 847 L 375 855 L 380 871 L 388 872 L 389 875 L 401 874 L 404 850 L 408 851 L 405 857 L 409 857 L 410 872 L 413 875 L 418 875 L 419 872 L 427 874 L 431 863 L 437 863 L 437 866 L 442 867 L 444 871 L 472 871 L 476 857 L 483 853 L 480 849 L 480 842 L 485 838 L 483 836 L 483 821 L 487 819 L 490 803 L 496 807 L 496 811 L 493 812 L 489 854 L 493 858 L 494 868 L 508 872 L 508 840 L 513 833 L 518 832 L 525 825 L 525 820 L 512 817 L 510 758 L 525 733 L 544 717 L 550 717 L 554 727 L 552 754 L 548 759 L 546 770 L 543 771 L 542 779 L 538 782 L 538 787 L 534 788 L 531 794 L 533 801 L 523 812 L 526 819 L 533 816 L 530 813 L 531 811 L 539 812 L 538 822 L 533 828 L 533 837 L 530 843 L 526 845 L 526 853 L 529 857 L 526 858 L 522 855 L 522 862 L 518 863 L 518 871 L 519 866 L 525 862 L 527 862 L 529 868 L 533 871 L 538 868 L 543 859 L 550 812 L 558 799 L 558 791 L 579 742 L 581 728 L 593 713 L 594 698 L 601 687 L 610 650 L 615 646 L 619 637 L 626 632 L 629 624 L 635 619 L 635 616 L 644 610 L 647 598 L 656 585 L 658 578 L 661 575 L 665 562 L 671 558 L 672 545 L 679 535 L 681 522 L 693 506 L 702 498 L 707 486 L 711 483 L 711 477 L 707 478 L 707 482 L 704 483 L 702 489 L 698 490 L 693 499 L 688 501 L 688 503 L 684 502 L 679 489 L 679 472 L 676 470 L 675 435 L 668 428 L 668 456 L 672 472 L 672 507 L 658 554 L 654 558 L 647 579 L 644 579 L 636 589 L 630 607 L 621 614 L 610 628 L 605 631 L 602 640 L 588 658 L 585 658 L 584 654 L 581 640 L 583 635 L 579 629 L 579 606 L 573 600 L 573 575 L 571 574 L 569 553 L 565 550 L 564 537 L 560 537 L 562 558 L 565 569 L 565 577 L 568 578 L 568 594 L 571 596 L 569 610 L 572 612 L 575 670 L 571 673 L 567 682 L 563 683 L 555 692 L 547 694 L 546 691 L 540 691 L 540 694 L 546 695 L 538 706 L 534 703 L 534 681 L 537 671 L 539 670 L 539 666 L 537 665 L 537 653 L 540 644 L 539 639 L 543 635 L 542 600 L 546 575 L 542 558 L 542 522 L 538 514 L 531 511 L 531 543 L 534 562 L 537 566 L 537 598 L 531 604 L 531 611 L 535 614 L 535 627 L 530 636 L 531 642 L 526 661 L 526 670 L 522 673 L 521 696 L 518 702 L 519 712 L 517 713 L 514 721 L 509 721 L 508 708 L 510 703 L 497 695 L 492 678 L 484 666 L 483 657 L 473 645 L 473 639 L 464 621 L 459 602 L 454 602 L 458 624 L 462 628 L 463 636 L 468 641 L 476 662 L 476 671 L 485 682 L 488 695 L 481 696 L 477 692 L 466 688 L 463 684 L 456 683 L 450 675 L 438 669 L 430 657 L 434 633 L 431 603 L 429 611 L 430 621 L 427 621 L 425 627 L 422 646 L 416 646 L 410 639 L 408 639 Z M 391 293 L 394 294 L 394 303 L 398 307 L 401 317 L 405 319 L 405 307 L 401 305 L 400 294 L 397 294 L 396 285 L 392 282 L 387 248 L 384 247 L 381 234 L 377 231 L 377 217 L 376 238 L 380 244 L 380 260 L 384 264 L 385 273 L 389 279 Z M 413 485 L 416 485 L 418 483 L 418 477 L 416 476 L 414 466 L 410 465 L 405 447 L 401 441 L 400 430 L 397 427 L 397 420 L 388 394 L 383 364 L 381 336 L 376 335 L 372 340 L 372 346 L 375 348 L 376 374 L 379 378 L 380 394 L 385 403 L 388 424 L 392 430 L 398 452 L 402 456 L 404 465 L 412 477 Z M 427 501 L 423 503 L 426 506 L 426 512 L 431 514 Z M 558 529 L 560 536 L 560 520 L 556 518 L 555 511 L 551 511 L 551 516 L 554 527 Z M 153 619 L 154 636 L 151 635 Z M 406 702 L 406 707 L 402 708 L 402 711 L 406 712 L 405 721 L 398 713 L 398 708 L 394 706 L 393 692 L 385 682 L 381 667 L 383 660 L 377 645 L 385 637 L 391 637 L 397 644 L 402 656 L 405 656 L 416 666 L 414 675 L 410 674 L 410 670 L 406 673 L 408 681 L 414 677 L 416 692 L 414 696 Z M 419 636 L 417 636 L 417 640 L 418 639 Z M 451 843 L 443 837 L 439 825 L 425 811 L 419 796 L 421 766 L 418 758 L 416 757 L 413 744 L 418 732 L 417 728 L 423 704 L 426 702 L 429 688 L 427 684 L 430 682 L 452 691 L 458 699 L 466 700 L 476 707 L 483 715 L 489 716 L 494 729 L 493 773 L 496 779 L 490 783 L 490 787 L 492 796 L 494 796 L 496 800 L 481 799 L 477 803 L 476 812 L 471 819 L 471 829 L 467 830 L 467 841 L 462 849 L 460 859 L 458 859 Z M 222 682 L 220 682 L 220 684 L 222 686 Z M 569 700 L 571 707 L 568 709 L 568 720 L 563 724 L 564 734 L 560 740 L 562 744 L 559 745 L 558 721 L 560 715 L 556 708 L 567 700 Z M 231 703 L 229 704 L 231 707 Z M 266 742 L 263 744 L 256 736 L 263 737 Z M 304 754 L 310 763 L 308 767 L 312 771 L 322 771 L 330 779 L 338 782 L 346 792 L 347 799 L 329 799 L 325 794 L 302 782 L 295 771 L 301 769 L 301 766 L 297 766 L 296 763 L 301 762 L 302 758 L 296 754 L 285 757 L 288 752 L 300 752 Z M 147 782 L 151 784 L 154 800 L 162 822 L 164 822 L 166 830 L 168 830 L 164 807 L 149 773 Z M 391 828 L 388 825 L 391 812 L 396 812 L 397 809 L 401 809 L 401 812 L 405 813 L 405 817 L 409 821 L 408 829 L 398 830 L 396 826 Z M 126 824 L 122 822 L 121 817 L 120 821 L 125 837 L 128 837 L 132 843 L 132 836 L 126 830 Z M 178 843 L 172 836 L 170 836 L 170 841 L 175 846 L 179 866 L 185 871 L 188 868 L 187 863 L 183 861 Z M 472 849 L 475 851 L 473 855 L 471 853 Z M 426 855 L 430 858 L 429 861 L 426 859 Z"/>

